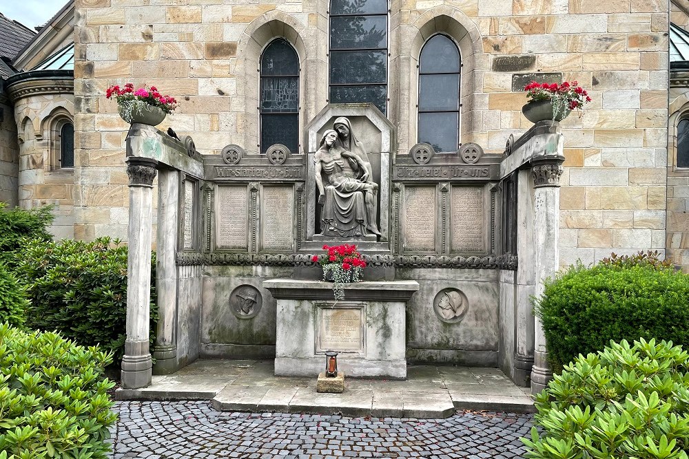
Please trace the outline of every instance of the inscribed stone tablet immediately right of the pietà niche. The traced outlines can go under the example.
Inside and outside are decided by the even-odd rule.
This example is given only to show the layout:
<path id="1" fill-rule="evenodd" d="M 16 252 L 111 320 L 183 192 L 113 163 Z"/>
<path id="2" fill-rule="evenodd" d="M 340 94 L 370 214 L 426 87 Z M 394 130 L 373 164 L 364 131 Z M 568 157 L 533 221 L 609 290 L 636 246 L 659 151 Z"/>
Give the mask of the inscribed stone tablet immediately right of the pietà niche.
<path id="1" fill-rule="evenodd" d="M 435 186 L 404 186 L 404 250 L 435 251 Z"/>

